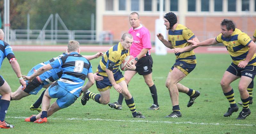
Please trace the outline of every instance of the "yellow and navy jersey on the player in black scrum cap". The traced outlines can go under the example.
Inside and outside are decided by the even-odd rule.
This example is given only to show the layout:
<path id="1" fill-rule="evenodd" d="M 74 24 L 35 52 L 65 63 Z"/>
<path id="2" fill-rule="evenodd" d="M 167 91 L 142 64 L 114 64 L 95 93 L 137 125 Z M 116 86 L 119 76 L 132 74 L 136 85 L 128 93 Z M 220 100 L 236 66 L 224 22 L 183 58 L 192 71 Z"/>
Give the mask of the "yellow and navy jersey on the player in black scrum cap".
<path id="1" fill-rule="evenodd" d="M 168 41 L 172 43 L 173 48 L 184 48 L 189 45 L 187 40 L 195 38 L 195 34 L 186 26 L 178 24 L 174 31 L 169 30 Z M 194 50 L 175 54 L 176 61 L 185 61 L 187 63 L 196 63 Z"/>

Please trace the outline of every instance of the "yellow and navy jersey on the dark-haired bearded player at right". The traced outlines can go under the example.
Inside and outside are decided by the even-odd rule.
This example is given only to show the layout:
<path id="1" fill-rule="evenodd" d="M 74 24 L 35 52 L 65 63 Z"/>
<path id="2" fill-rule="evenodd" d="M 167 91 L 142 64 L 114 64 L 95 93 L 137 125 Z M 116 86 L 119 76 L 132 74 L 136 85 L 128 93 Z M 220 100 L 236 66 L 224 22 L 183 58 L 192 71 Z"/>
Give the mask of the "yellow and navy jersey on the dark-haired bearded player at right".
<path id="1" fill-rule="evenodd" d="M 222 33 L 220 33 L 215 39 L 217 42 L 224 44 L 235 65 L 238 65 L 240 61 L 245 60 L 249 51 L 247 46 L 252 41 L 252 39 L 246 33 L 237 28 L 231 34 L 231 36 L 223 37 Z M 256 54 L 254 53 L 248 65 L 256 65 L 255 56 Z"/>

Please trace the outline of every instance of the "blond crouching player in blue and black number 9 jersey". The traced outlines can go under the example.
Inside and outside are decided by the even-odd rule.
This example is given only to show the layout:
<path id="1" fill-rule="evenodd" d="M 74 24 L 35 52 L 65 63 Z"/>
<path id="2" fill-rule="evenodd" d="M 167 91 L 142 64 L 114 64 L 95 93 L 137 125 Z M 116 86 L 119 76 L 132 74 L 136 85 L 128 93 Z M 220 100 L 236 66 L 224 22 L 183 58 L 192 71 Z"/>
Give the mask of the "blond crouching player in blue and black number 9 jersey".
<path id="1" fill-rule="evenodd" d="M 57 58 L 39 68 L 31 76 L 22 76 L 25 80 L 31 82 L 45 71 L 60 67 L 63 71 L 60 79 L 46 89 L 42 101 L 42 112 L 36 116 L 26 118 L 26 122 L 47 122 L 48 116 L 73 104 L 83 91 L 88 90 L 94 84 L 91 63 L 80 55 L 78 41 L 68 42 L 68 53 L 68 55 Z M 89 81 L 82 90 L 85 78 L 88 78 Z M 51 98 L 58 99 L 50 106 Z"/>

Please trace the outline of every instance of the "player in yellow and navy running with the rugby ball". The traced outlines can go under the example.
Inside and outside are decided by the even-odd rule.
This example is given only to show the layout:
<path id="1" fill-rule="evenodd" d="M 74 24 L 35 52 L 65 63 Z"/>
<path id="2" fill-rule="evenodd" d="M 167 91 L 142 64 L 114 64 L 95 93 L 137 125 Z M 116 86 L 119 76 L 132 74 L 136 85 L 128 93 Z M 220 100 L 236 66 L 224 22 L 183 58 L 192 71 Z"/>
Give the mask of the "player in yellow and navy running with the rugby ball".
<path id="1" fill-rule="evenodd" d="M 97 75 L 103 77 L 103 80 L 96 81 L 96 86 L 99 93 L 92 93 L 89 90 L 84 92 L 81 99 L 82 105 L 85 105 L 89 99 L 92 99 L 100 104 L 106 105 L 110 101 L 109 88 L 112 86 L 118 93 L 122 93 L 127 106 L 132 111 L 134 118 L 145 118 L 141 113 L 138 113 L 135 108 L 135 103 L 131 93 L 128 91 L 127 84 L 122 72 L 119 70 L 119 65 L 123 62 L 124 58 L 130 54 L 129 48 L 133 42 L 132 34 L 124 33 L 121 41 L 115 46 L 108 49 L 100 60 L 99 66 L 96 72 Z M 135 70 L 136 66 L 134 62 L 127 63 L 128 70 Z M 83 87 L 84 88 L 84 87 Z"/>

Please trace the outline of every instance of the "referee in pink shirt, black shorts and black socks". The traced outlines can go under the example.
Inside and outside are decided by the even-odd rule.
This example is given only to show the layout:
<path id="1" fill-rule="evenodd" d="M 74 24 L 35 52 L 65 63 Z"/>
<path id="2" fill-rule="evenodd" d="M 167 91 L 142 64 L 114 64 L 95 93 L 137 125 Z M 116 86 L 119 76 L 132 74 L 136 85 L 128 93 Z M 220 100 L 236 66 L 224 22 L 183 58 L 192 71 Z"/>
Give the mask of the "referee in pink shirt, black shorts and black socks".
<path id="1" fill-rule="evenodd" d="M 131 28 L 129 33 L 133 36 L 133 43 L 130 48 L 130 55 L 135 57 L 135 71 L 125 71 L 124 78 L 128 86 L 132 77 L 138 72 L 142 75 L 151 92 L 154 104 L 148 108 L 150 110 L 158 110 L 156 86 L 152 80 L 153 59 L 150 55 L 151 41 L 148 29 L 140 24 L 140 16 L 137 12 L 132 12 L 129 17 Z M 123 95 L 120 93 L 118 100 L 109 103 L 108 106 L 115 109 L 122 109 Z"/>

